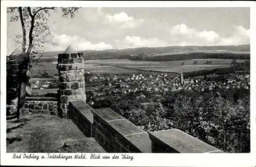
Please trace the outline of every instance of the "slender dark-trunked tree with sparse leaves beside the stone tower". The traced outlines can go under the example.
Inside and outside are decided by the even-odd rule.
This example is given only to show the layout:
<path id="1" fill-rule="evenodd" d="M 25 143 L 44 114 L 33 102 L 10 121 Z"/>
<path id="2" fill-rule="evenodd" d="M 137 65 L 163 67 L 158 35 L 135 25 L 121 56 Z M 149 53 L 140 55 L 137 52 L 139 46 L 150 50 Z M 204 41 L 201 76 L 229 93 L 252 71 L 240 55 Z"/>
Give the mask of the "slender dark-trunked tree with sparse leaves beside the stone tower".
<path id="1" fill-rule="evenodd" d="M 49 16 L 50 11 L 61 10 L 63 17 L 73 17 L 79 8 L 56 7 L 11 7 L 7 13 L 11 14 L 10 22 L 20 21 L 22 34 L 16 34 L 15 42 L 21 44 L 22 54 L 16 60 L 19 63 L 18 81 L 18 111 L 17 118 L 22 118 L 20 108 L 23 108 L 26 88 L 29 85 L 29 69 L 31 60 L 38 52 L 44 51 L 44 44 L 50 36 Z M 52 43 L 54 44 L 54 43 Z"/>

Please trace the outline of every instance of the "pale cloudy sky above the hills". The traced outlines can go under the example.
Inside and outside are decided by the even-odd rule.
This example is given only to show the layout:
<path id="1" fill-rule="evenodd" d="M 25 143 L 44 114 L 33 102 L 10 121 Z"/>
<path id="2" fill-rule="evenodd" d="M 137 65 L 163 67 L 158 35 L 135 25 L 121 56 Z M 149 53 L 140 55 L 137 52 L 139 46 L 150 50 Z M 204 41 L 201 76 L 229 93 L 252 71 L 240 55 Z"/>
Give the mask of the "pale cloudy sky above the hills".
<path id="1" fill-rule="evenodd" d="M 81 8 L 74 18 L 57 10 L 49 19 L 45 51 L 250 43 L 250 8 Z M 21 31 L 19 21 L 7 24 L 8 54 Z"/>

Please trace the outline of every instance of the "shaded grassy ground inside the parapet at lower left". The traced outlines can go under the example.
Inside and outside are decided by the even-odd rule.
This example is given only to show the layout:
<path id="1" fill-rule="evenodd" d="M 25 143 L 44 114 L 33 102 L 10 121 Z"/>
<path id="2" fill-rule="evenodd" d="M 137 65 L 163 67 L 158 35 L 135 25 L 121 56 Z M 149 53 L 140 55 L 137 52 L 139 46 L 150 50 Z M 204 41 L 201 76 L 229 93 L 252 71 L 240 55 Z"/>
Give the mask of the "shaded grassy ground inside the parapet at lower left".
<path id="1" fill-rule="evenodd" d="M 8 153 L 56 153 L 56 152 L 105 152 L 94 140 L 86 138 L 68 119 L 53 115 L 34 114 L 22 121 L 7 122 Z M 84 139 L 74 146 L 64 148 L 70 140 Z"/>

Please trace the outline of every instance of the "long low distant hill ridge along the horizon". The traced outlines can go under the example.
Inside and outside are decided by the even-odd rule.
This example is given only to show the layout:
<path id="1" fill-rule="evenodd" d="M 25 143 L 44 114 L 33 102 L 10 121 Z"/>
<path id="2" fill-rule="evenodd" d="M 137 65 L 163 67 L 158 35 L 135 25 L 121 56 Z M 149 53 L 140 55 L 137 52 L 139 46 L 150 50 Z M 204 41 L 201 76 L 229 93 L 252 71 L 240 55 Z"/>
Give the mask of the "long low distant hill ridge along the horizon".
<path id="1" fill-rule="evenodd" d="M 57 58 L 59 53 L 45 52 L 38 54 L 40 59 Z M 166 46 L 166 47 L 137 47 L 123 50 L 104 50 L 104 51 L 79 51 L 84 54 L 86 59 L 106 59 L 106 58 L 127 58 L 130 56 L 144 55 L 146 57 L 178 55 L 189 53 L 232 53 L 232 54 L 249 54 L 250 45 L 227 45 L 227 46 Z"/>

